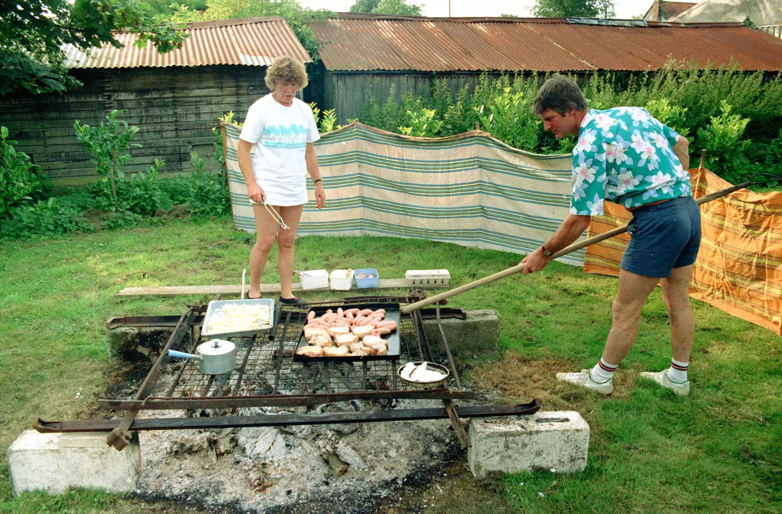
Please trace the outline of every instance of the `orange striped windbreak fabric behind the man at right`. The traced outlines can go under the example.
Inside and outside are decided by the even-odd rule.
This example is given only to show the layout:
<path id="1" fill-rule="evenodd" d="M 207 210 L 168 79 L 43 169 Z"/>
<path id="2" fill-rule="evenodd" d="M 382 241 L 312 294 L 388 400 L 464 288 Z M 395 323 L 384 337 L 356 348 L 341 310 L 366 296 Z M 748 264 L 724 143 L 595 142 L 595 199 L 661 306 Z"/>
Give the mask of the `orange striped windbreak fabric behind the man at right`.
<path id="1" fill-rule="evenodd" d="M 695 198 L 731 185 L 708 170 L 690 174 Z M 589 235 L 628 221 L 630 212 L 606 202 L 604 216 L 592 216 Z M 691 297 L 782 335 L 782 192 L 741 189 L 705 203 L 701 229 Z M 584 271 L 619 275 L 627 241 L 630 236 L 620 234 L 587 247 Z"/>

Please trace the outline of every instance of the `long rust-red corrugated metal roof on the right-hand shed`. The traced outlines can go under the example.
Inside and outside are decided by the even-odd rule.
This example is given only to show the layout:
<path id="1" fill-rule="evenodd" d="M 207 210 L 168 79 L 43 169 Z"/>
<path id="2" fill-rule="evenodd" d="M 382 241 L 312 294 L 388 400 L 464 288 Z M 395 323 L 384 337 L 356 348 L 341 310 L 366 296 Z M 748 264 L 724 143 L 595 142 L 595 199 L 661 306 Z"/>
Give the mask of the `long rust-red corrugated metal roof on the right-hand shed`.
<path id="1" fill-rule="evenodd" d="M 640 71 L 669 55 L 782 70 L 782 41 L 740 23 L 338 15 L 310 24 L 332 71 Z"/>

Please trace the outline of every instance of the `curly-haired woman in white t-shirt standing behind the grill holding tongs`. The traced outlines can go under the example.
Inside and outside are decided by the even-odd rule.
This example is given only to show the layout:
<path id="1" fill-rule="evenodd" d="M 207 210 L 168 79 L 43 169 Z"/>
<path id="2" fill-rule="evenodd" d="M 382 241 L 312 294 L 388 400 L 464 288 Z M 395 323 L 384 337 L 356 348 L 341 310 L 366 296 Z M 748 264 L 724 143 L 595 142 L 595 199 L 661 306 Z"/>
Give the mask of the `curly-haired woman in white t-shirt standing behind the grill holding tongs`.
<path id="1" fill-rule="evenodd" d="M 326 201 L 313 143 L 320 139 L 312 109 L 296 98 L 307 86 L 304 65 L 290 57 L 276 59 L 266 72 L 269 95 L 247 111 L 239 135 L 239 169 L 255 214 L 256 243 L 249 254 L 248 298 L 260 298 L 260 276 L 277 241 L 280 300 L 301 303 L 291 292 L 293 241 L 303 205 L 307 203 L 307 173 L 315 182 L 315 206 Z M 277 230 L 278 222 L 280 224 Z"/>

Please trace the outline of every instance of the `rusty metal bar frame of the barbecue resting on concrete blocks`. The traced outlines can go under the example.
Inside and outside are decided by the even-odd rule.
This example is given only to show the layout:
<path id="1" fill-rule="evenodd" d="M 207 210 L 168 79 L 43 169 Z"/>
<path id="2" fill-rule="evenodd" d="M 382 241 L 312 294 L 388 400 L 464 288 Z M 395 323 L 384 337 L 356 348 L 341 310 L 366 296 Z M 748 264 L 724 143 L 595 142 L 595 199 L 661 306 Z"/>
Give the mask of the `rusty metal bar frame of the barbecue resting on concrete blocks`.
<path id="1" fill-rule="evenodd" d="M 354 297 L 345 298 L 344 305 L 361 305 L 366 302 L 396 302 L 396 303 L 411 303 L 421 300 L 421 298 L 415 297 Z M 400 330 L 400 355 L 398 359 L 391 359 L 389 361 L 371 361 L 361 362 L 361 366 L 356 363 L 331 363 L 331 362 L 300 362 L 294 363 L 292 361 L 292 355 L 286 359 L 286 344 L 296 344 L 292 337 L 294 330 L 295 334 L 299 334 L 303 323 L 306 322 L 307 312 L 311 305 L 324 305 L 332 304 L 333 302 L 321 302 L 321 304 L 312 303 L 307 305 L 306 308 L 300 306 L 285 306 L 282 303 L 278 304 L 278 317 L 274 323 L 274 329 L 267 334 L 267 344 L 269 348 L 277 348 L 277 353 L 270 354 L 272 361 L 276 363 L 274 368 L 266 368 L 267 373 L 274 371 L 274 387 L 271 392 L 280 392 L 279 385 L 282 374 L 282 362 L 289 362 L 291 365 L 298 364 L 302 369 L 305 366 L 309 366 L 307 369 L 321 370 L 322 373 L 318 375 L 323 377 L 324 380 L 330 380 L 330 377 L 334 376 L 330 373 L 330 369 L 334 366 L 334 370 L 338 371 L 339 366 L 351 366 L 351 368 L 359 367 L 360 372 L 356 372 L 353 369 L 353 374 L 361 376 L 361 384 L 371 383 L 368 379 L 369 366 L 386 366 L 386 368 L 379 369 L 373 368 L 373 380 L 375 380 L 375 387 L 371 390 L 357 390 L 348 391 L 353 387 L 350 386 L 350 382 L 347 387 L 343 387 L 345 391 L 326 392 L 326 393 L 314 393 L 314 394 L 246 394 L 235 395 L 235 392 L 242 392 L 242 382 L 248 384 L 249 374 L 247 373 L 247 365 L 249 363 L 249 355 L 253 352 L 253 348 L 260 344 L 258 337 L 249 337 L 249 341 L 246 341 L 244 345 L 245 352 L 238 352 L 239 360 L 242 364 L 239 366 L 239 371 L 236 371 L 235 384 L 231 385 L 231 380 L 234 374 L 231 373 L 231 377 L 223 384 L 214 384 L 214 376 L 203 376 L 206 378 L 206 383 L 203 385 L 203 391 L 207 393 L 209 391 L 217 392 L 212 396 L 194 397 L 189 396 L 192 392 L 188 393 L 186 389 L 181 389 L 181 395 L 176 396 L 178 392 L 178 384 L 180 384 L 181 377 L 187 373 L 188 366 L 192 366 L 192 363 L 182 364 L 178 368 L 178 372 L 172 384 L 167 389 L 167 397 L 155 397 L 150 395 L 150 391 L 156 387 L 161 373 L 166 369 L 168 359 L 168 350 L 176 349 L 185 341 L 185 336 L 190 333 L 190 341 L 192 341 L 192 347 L 199 343 L 201 337 L 195 337 L 195 332 L 199 329 L 201 323 L 203 323 L 203 312 L 206 310 L 205 305 L 191 306 L 175 323 L 174 330 L 172 331 L 167 343 L 163 346 L 163 349 L 158 355 L 155 363 L 152 365 L 152 369 L 149 370 L 149 374 L 145 377 L 141 387 L 138 388 L 134 398 L 128 401 L 116 401 L 116 400 L 99 400 L 98 406 L 102 409 L 120 409 L 125 410 L 125 415 L 122 419 L 92 419 L 86 421 L 45 421 L 40 418 L 36 418 L 33 421 L 33 427 L 35 430 L 41 433 L 57 433 L 57 432 L 94 432 L 94 431 L 106 431 L 110 432 L 106 437 L 106 443 L 113 446 L 117 450 L 124 449 L 127 444 L 130 443 L 133 437 L 133 430 L 177 430 L 182 428 L 192 429 L 204 429 L 204 428 L 228 428 L 228 427 L 273 427 L 281 425 L 302 425 L 302 424 L 328 424 L 328 423 L 368 423 L 378 421 L 400 421 L 406 419 L 449 419 L 450 426 L 454 429 L 457 438 L 462 448 L 468 448 L 469 441 L 465 427 L 461 423 L 459 416 L 479 417 L 479 416 L 518 416 L 527 415 L 537 412 L 540 409 L 540 401 L 535 399 L 533 402 L 520 405 L 482 405 L 474 407 L 457 407 L 452 400 L 456 399 L 472 399 L 474 394 L 472 391 L 464 391 L 461 388 L 461 384 L 458 380 L 458 372 L 454 363 L 453 355 L 450 354 L 450 348 L 448 346 L 447 338 L 443 332 L 443 327 L 440 324 L 440 320 L 443 315 L 450 316 L 452 312 L 456 311 L 457 318 L 465 319 L 465 312 L 458 312 L 459 309 L 441 309 L 440 305 L 436 305 L 435 319 L 437 319 L 437 326 L 441 337 L 443 337 L 443 346 L 446 349 L 448 363 L 451 369 L 451 379 L 456 384 L 456 391 L 452 391 L 449 387 L 439 387 L 436 389 L 405 389 L 401 386 L 401 380 L 396 378 L 396 366 L 400 365 L 400 362 L 407 362 L 409 360 L 429 360 L 432 361 L 432 352 L 429 350 L 429 341 L 426 337 L 424 325 L 422 319 L 431 319 L 431 314 L 427 316 L 420 310 L 413 310 L 407 315 L 402 315 L 398 330 Z M 171 326 L 174 323 L 174 319 L 170 319 L 171 316 L 150 316 L 149 320 L 139 319 L 125 319 L 125 318 L 112 318 L 106 322 L 106 326 L 118 327 L 124 323 L 130 323 L 129 326 L 150 326 L 146 323 L 155 323 L 160 321 L 164 326 Z M 282 327 L 282 331 L 281 328 Z M 404 337 L 402 337 L 404 335 Z M 379 364 L 378 364 L 379 363 Z M 200 372 L 198 372 L 200 374 Z M 316 373 L 313 374 L 313 376 Z M 350 376 L 350 373 L 342 373 L 344 376 Z M 199 377 L 198 384 L 202 382 Z M 218 376 L 219 377 L 219 376 Z M 377 380 L 379 377 L 385 377 L 386 380 Z M 389 383 L 391 385 L 389 385 Z M 268 384 L 268 380 L 267 380 Z M 326 384 L 326 382 L 325 382 Z M 355 382 L 353 382 L 355 384 Z M 221 387 L 218 387 L 221 386 Z M 198 389 L 196 387 L 196 389 Z M 328 387 L 327 387 L 328 388 Z M 300 386 L 300 390 L 307 389 L 307 380 L 303 381 L 303 385 Z M 332 391 L 335 391 L 332 387 Z M 231 393 L 229 395 L 223 393 Z M 249 388 L 246 392 L 255 392 Z M 294 391 L 290 391 L 294 392 Z M 293 407 L 293 406 L 306 406 L 306 405 L 320 405 L 332 402 L 343 402 L 355 399 L 392 399 L 392 398 L 411 398 L 411 399 L 439 399 L 443 402 L 442 409 L 378 409 L 378 410 L 361 410 L 360 412 L 328 412 L 328 413 L 306 413 L 306 414 L 276 414 L 270 415 L 229 415 L 224 416 L 217 412 L 213 412 L 212 415 L 206 417 L 192 417 L 185 416 L 184 418 L 155 418 L 155 419 L 135 419 L 138 416 L 138 412 L 142 409 L 229 409 L 229 412 L 236 412 L 237 409 L 246 407 L 263 407 L 263 406 L 279 406 L 279 407 Z M 354 407 L 357 407 L 353 403 Z M 357 409 L 358 410 L 358 409 Z"/>

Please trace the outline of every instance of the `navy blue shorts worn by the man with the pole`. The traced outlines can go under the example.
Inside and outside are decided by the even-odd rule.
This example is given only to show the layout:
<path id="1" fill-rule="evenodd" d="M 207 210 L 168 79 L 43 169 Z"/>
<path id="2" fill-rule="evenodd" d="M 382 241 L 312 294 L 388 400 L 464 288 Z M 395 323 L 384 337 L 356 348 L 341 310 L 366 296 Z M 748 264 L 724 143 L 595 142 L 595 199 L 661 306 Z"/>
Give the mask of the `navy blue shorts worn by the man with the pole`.
<path id="1" fill-rule="evenodd" d="M 633 210 L 622 269 L 644 277 L 669 277 L 690 266 L 701 248 L 701 212 L 691 196 Z"/>

